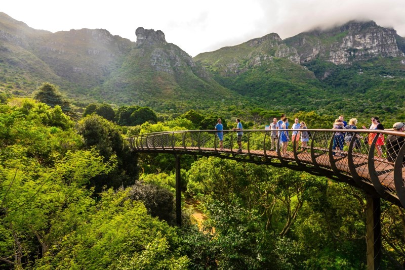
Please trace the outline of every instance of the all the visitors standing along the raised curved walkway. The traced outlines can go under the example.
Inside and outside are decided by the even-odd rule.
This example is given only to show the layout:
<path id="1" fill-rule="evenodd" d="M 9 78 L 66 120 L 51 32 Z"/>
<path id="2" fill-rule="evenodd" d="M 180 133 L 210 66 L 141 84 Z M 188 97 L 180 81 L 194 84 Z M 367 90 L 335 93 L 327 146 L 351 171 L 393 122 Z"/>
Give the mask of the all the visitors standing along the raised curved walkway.
<path id="1" fill-rule="evenodd" d="M 217 131 L 217 136 L 219 139 L 219 145 L 220 145 L 220 150 L 224 150 L 223 148 L 223 125 L 222 121 L 220 118 L 218 118 L 218 123 L 215 126 L 215 130 Z M 354 144 L 353 147 L 355 149 L 360 149 L 361 143 L 360 140 L 362 140 L 365 144 L 372 145 L 374 139 L 376 136 L 378 136 L 378 139 L 375 143 L 376 151 L 378 154 L 378 157 L 381 157 L 383 155 L 382 151 L 382 146 L 386 144 L 386 149 L 387 149 L 387 159 L 388 161 L 394 161 L 396 160 L 396 157 L 399 153 L 400 148 L 402 147 L 403 144 L 405 144 L 405 137 L 398 136 L 398 135 L 391 135 L 389 134 L 387 136 L 387 140 L 384 138 L 384 134 L 379 134 L 379 133 L 367 133 L 367 136 L 362 137 L 359 135 L 359 133 L 355 132 L 345 132 L 344 129 L 357 129 L 357 119 L 356 118 L 351 118 L 349 120 L 349 123 L 347 123 L 344 120 L 343 115 L 340 115 L 339 118 L 335 119 L 335 122 L 333 123 L 332 128 L 333 129 L 339 129 L 337 130 L 334 134 L 333 138 L 333 146 L 332 149 L 335 150 L 333 152 L 334 156 L 341 156 L 342 150 L 344 147 L 344 144 L 349 145 L 350 142 L 352 141 L 353 137 L 354 139 Z M 288 122 L 288 118 L 286 114 L 281 114 L 280 119 L 277 121 L 277 118 L 273 118 L 273 122 L 270 123 L 269 129 L 271 130 L 270 138 L 271 138 L 271 149 L 270 151 L 278 151 L 278 149 L 281 150 L 281 156 L 288 156 L 289 154 L 287 153 L 287 147 L 288 143 L 290 141 L 295 141 L 295 147 L 296 150 L 298 151 L 299 148 L 299 143 L 301 142 L 301 151 L 306 151 L 308 149 L 308 141 L 310 139 L 310 132 L 306 131 L 307 125 L 304 121 L 299 121 L 298 118 L 294 119 L 294 123 L 291 127 L 293 129 L 292 131 L 292 136 L 291 140 L 289 137 L 289 133 L 287 129 L 289 129 L 290 123 Z M 363 129 L 370 129 L 370 130 L 383 130 L 384 126 L 380 123 L 379 117 L 375 116 L 371 118 L 371 124 L 369 127 L 362 126 Z M 405 123 L 403 122 L 396 122 L 392 126 L 394 131 L 400 131 L 404 132 L 405 131 Z M 238 152 L 242 151 L 242 124 L 240 123 L 240 119 L 236 119 L 236 127 L 232 128 L 233 130 L 237 131 L 237 144 L 239 149 L 237 150 Z M 279 146 L 277 147 L 277 140 L 279 139 Z M 405 162 L 405 157 L 404 157 L 404 162 Z"/>

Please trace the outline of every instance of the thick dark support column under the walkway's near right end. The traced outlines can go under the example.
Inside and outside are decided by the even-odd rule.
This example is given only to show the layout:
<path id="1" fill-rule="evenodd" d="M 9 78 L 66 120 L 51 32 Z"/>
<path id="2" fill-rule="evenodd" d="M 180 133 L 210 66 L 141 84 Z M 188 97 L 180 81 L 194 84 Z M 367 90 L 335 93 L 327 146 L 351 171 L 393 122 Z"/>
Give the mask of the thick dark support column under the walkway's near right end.
<path id="1" fill-rule="evenodd" d="M 367 269 L 381 269 L 381 203 L 380 198 L 366 196 Z"/>

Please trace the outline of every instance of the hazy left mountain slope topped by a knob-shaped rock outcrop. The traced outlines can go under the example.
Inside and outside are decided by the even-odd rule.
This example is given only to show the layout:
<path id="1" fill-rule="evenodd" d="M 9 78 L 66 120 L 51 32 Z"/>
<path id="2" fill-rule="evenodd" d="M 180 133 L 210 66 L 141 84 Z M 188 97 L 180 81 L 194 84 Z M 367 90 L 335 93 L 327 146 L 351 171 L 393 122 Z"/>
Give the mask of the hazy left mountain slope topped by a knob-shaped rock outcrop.
<path id="1" fill-rule="evenodd" d="M 0 13 L 0 91 L 29 96 L 44 81 L 76 103 L 218 110 L 240 96 L 221 86 L 161 31 L 132 42 L 104 29 L 51 33 Z M 139 36 L 138 36 L 139 35 Z"/>

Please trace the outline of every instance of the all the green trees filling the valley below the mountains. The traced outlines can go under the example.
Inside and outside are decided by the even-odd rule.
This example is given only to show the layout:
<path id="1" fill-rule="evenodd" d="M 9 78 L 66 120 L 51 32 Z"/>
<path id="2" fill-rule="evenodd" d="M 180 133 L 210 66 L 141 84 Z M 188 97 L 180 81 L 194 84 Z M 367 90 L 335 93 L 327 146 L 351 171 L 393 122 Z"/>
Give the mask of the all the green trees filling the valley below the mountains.
<path id="1" fill-rule="evenodd" d="M 305 172 L 185 155 L 179 228 L 174 157 L 131 152 L 125 140 L 213 129 L 218 117 L 224 129 L 236 116 L 245 129 L 264 128 L 281 112 L 90 104 L 79 115 L 72 106 L 50 83 L 34 99 L 2 96 L 0 269 L 366 269 L 365 193 Z M 339 115 L 287 113 L 310 128 L 331 128 Z M 381 208 L 383 268 L 400 269 L 404 209 L 384 200 Z M 207 216 L 201 224 L 196 209 Z"/>

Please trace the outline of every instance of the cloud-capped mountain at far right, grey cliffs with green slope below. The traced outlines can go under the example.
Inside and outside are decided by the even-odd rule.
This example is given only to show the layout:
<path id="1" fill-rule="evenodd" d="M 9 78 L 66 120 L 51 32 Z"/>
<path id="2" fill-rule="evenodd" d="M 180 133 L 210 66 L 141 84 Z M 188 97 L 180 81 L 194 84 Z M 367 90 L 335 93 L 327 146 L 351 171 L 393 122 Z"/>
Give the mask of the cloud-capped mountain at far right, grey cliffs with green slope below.
<path id="1" fill-rule="evenodd" d="M 322 110 L 405 116 L 403 38 L 395 30 L 351 21 L 284 41 L 297 49 L 303 66 L 338 94 Z"/>

